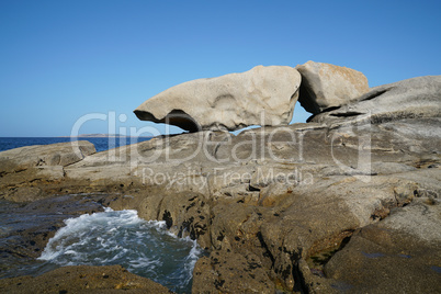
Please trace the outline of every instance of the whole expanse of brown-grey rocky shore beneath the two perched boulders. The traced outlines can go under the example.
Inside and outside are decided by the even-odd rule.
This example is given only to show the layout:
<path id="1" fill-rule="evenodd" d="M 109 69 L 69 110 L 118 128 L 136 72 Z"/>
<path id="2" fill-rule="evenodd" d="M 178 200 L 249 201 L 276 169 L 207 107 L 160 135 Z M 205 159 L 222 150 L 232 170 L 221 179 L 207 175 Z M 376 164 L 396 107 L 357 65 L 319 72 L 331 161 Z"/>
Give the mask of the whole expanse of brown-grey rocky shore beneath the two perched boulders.
<path id="1" fill-rule="evenodd" d="M 201 129 L 103 152 L 88 142 L 3 151 L 0 195 L 104 193 L 105 206 L 166 220 L 210 252 L 193 293 L 439 291 L 441 77 L 338 103 L 310 104 L 317 114 L 305 124 L 237 136 Z"/>

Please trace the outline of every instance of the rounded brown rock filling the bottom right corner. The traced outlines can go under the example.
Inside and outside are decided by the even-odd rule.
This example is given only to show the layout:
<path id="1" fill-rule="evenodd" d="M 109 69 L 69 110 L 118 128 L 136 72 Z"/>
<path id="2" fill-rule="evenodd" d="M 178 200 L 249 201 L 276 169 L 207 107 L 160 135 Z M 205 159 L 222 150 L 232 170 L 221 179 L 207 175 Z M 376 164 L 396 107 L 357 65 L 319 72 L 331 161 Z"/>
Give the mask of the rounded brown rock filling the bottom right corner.
<path id="1" fill-rule="evenodd" d="M 411 205 L 358 230 L 326 263 L 326 276 L 349 292 L 439 292 L 440 203 L 434 194 L 416 196 Z"/>

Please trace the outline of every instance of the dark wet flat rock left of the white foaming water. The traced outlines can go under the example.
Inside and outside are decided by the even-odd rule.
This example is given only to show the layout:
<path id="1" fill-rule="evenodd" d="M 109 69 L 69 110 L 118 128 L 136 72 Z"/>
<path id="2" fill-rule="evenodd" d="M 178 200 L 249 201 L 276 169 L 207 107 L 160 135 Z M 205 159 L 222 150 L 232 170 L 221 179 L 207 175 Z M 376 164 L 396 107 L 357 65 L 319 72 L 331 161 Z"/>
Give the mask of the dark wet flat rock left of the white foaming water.
<path id="1" fill-rule="evenodd" d="M 26 273 L 27 265 L 38 263 L 35 259 L 65 226 L 65 219 L 103 211 L 102 205 L 83 195 L 45 197 L 27 204 L 1 201 L 0 207 L 0 278 Z"/>

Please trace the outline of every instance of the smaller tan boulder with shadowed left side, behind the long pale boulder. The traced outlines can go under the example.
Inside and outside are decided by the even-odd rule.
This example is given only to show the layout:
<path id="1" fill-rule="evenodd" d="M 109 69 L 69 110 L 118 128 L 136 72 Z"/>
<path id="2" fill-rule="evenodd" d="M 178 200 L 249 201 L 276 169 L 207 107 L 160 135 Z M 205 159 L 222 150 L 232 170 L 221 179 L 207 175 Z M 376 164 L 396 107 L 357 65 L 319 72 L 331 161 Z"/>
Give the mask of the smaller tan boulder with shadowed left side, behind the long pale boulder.
<path id="1" fill-rule="evenodd" d="M 346 104 L 369 90 L 366 77 L 351 68 L 314 61 L 295 68 L 302 75 L 298 102 L 314 114 Z"/>

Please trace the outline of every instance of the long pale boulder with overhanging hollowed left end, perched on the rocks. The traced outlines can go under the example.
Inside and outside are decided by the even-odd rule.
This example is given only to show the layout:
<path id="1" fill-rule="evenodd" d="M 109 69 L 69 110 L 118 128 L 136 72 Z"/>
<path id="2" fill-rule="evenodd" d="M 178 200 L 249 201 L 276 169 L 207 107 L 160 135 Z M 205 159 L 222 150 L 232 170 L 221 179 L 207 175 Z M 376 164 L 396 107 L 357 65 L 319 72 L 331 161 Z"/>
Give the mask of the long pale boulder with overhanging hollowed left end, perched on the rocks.
<path id="1" fill-rule="evenodd" d="M 301 75 L 287 66 L 257 66 L 241 74 L 174 86 L 140 104 L 139 120 L 185 131 L 236 131 L 250 125 L 287 125 Z"/>

